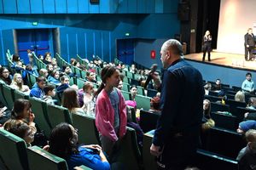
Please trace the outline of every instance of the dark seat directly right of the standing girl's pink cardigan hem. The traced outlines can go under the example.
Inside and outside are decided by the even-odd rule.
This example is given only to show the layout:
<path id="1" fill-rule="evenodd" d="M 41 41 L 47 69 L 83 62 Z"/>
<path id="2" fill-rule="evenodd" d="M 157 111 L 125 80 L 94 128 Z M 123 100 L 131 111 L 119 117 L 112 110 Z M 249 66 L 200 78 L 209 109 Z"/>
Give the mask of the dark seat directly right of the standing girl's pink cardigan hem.
<path id="1" fill-rule="evenodd" d="M 137 134 L 131 127 L 126 127 L 126 134 L 122 139 L 118 162 L 123 163 L 126 169 L 138 170 L 141 161 L 141 152 L 137 145 Z"/>

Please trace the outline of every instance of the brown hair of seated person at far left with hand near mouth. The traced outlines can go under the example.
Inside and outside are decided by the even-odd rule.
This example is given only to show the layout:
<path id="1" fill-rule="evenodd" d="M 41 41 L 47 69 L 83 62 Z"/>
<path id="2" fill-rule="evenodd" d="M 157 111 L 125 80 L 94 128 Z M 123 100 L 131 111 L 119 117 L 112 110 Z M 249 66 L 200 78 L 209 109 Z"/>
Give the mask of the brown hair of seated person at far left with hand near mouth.
<path id="1" fill-rule="evenodd" d="M 23 119 L 26 118 L 23 115 L 23 111 L 26 107 L 31 107 L 31 103 L 27 99 L 16 99 L 13 110 L 11 112 L 11 118 L 13 119 Z"/>

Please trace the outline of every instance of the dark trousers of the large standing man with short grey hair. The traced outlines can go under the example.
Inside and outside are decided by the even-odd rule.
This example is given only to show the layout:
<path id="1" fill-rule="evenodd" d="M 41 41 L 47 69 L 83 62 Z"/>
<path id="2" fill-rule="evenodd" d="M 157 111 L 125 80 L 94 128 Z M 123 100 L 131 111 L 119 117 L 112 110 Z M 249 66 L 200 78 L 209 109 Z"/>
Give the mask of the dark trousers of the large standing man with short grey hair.
<path id="1" fill-rule="evenodd" d="M 198 135 L 173 137 L 157 157 L 158 170 L 183 170 L 195 163 Z"/>

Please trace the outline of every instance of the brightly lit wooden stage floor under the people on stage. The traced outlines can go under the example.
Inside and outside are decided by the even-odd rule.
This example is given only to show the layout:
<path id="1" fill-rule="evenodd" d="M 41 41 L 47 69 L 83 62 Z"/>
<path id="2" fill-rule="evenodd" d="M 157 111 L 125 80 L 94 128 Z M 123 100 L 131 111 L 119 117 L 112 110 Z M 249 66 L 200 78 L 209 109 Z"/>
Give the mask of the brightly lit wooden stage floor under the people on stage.
<path id="1" fill-rule="evenodd" d="M 195 61 L 202 62 L 202 53 L 198 54 L 187 54 L 184 55 L 185 59 L 191 59 Z M 255 61 L 246 61 L 244 59 L 243 54 L 227 54 L 227 53 L 219 53 L 216 51 L 211 52 L 211 62 L 207 61 L 208 58 L 206 56 L 206 63 L 213 65 L 224 65 L 232 68 L 239 68 L 244 70 L 253 70 L 256 71 L 256 60 Z"/>

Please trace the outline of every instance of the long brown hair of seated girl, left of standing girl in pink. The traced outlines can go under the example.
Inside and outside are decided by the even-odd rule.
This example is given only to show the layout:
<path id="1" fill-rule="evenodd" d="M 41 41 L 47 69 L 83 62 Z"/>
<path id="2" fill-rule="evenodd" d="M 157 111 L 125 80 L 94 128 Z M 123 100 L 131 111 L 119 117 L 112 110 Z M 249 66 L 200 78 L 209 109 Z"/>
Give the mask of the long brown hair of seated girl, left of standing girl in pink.
<path id="1" fill-rule="evenodd" d="M 66 107 L 69 111 L 73 108 L 79 107 L 79 100 L 77 91 L 73 88 L 67 88 L 62 94 L 62 106 Z"/>

